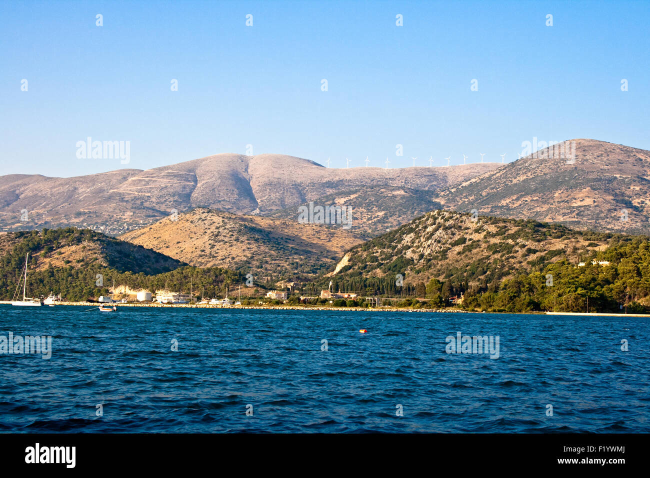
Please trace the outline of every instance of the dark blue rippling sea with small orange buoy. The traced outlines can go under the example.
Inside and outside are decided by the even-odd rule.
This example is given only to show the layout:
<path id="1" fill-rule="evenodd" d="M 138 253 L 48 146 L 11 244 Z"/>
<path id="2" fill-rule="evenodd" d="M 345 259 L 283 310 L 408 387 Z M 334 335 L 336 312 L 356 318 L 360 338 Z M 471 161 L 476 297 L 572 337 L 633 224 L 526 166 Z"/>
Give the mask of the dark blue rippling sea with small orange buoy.
<path id="1" fill-rule="evenodd" d="M 650 431 L 645 318 L 86 310 L 0 306 L 0 336 L 52 337 L 0 354 L 0 431 Z M 499 358 L 447 353 L 457 332 Z"/>

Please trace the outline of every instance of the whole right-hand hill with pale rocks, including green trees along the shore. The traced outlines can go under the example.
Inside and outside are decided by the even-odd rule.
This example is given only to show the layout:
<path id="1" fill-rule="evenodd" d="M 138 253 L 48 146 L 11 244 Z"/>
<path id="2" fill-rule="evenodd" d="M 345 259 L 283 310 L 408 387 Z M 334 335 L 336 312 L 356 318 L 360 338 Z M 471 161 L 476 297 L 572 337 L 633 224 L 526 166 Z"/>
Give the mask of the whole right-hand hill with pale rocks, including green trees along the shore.
<path id="1" fill-rule="evenodd" d="M 330 279 L 335 290 L 402 293 L 434 306 L 463 294 L 470 310 L 585 312 L 587 300 L 590 312 L 633 302 L 644 310 L 650 238 L 433 211 L 355 246 Z"/>

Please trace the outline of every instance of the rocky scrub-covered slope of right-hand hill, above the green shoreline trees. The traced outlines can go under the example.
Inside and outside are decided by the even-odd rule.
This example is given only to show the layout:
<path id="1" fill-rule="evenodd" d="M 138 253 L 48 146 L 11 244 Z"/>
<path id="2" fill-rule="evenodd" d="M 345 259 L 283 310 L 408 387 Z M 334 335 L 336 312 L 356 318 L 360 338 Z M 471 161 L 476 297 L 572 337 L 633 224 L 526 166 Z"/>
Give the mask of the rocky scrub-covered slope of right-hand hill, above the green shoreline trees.
<path id="1" fill-rule="evenodd" d="M 365 288 L 373 279 L 426 284 L 432 278 L 487 289 L 502 278 L 566 259 L 573 264 L 623 239 L 535 220 L 433 211 L 348 251 L 328 274 Z M 329 280 L 329 279 L 328 279 Z"/>

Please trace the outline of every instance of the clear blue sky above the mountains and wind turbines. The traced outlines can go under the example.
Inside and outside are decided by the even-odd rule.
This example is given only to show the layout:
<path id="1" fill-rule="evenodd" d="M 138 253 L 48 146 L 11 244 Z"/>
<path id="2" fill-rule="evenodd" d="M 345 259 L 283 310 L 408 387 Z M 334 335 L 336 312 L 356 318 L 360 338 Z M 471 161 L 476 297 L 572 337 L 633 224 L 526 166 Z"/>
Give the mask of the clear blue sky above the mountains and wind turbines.
<path id="1" fill-rule="evenodd" d="M 0 174 L 248 144 L 332 167 L 513 161 L 534 137 L 650 150 L 649 25 L 649 1 L 0 1 Z M 79 159 L 87 137 L 129 141 L 129 164 Z"/>

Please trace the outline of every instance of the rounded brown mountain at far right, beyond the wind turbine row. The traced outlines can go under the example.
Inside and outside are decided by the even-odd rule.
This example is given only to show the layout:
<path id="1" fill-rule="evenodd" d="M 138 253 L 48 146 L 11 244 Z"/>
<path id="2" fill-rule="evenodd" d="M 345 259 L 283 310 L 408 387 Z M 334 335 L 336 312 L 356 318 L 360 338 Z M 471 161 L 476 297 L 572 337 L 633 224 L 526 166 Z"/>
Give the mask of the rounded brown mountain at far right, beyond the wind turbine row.
<path id="1" fill-rule="evenodd" d="M 593 139 L 514 161 L 440 191 L 445 209 L 558 222 L 575 229 L 650 233 L 650 152 Z"/>

